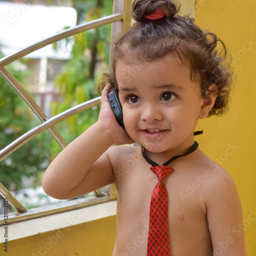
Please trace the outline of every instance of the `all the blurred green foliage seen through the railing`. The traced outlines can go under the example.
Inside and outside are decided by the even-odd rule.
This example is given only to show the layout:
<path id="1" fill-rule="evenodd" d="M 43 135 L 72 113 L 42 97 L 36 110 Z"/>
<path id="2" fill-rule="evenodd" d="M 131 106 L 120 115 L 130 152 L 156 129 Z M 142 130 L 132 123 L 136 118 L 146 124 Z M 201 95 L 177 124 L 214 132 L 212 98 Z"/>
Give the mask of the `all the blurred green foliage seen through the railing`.
<path id="1" fill-rule="evenodd" d="M 49 0 L 48 4 L 51 2 Z M 77 9 L 79 23 L 85 23 L 112 14 L 113 1 L 73 1 L 73 5 Z M 108 70 L 110 34 L 111 25 L 105 25 L 66 39 L 67 46 L 73 42 L 72 57 L 67 61 L 65 70 L 54 81 L 63 101 L 52 103 L 53 115 L 99 96 L 97 86 L 101 74 Z M 54 44 L 54 48 L 58 49 L 58 43 Z M 0 53 L 1 57 L 3 55 Z M 8 70 L 21 84 L 25 84 L 28 72 L 17 69 L 20 62 L 15 61 L 8 66 Z M 25 101 L 2 76 L 0 113 L 0 149 L 40 123 Z M 70 142 L 97 120 L 98 113 L 99 106 L 59 123 L 57 129 Z M 23 177 L 34 176 L 37 177 L 37 185 L 40 184 L 40 171 L 45 170 L 60 151 L 60 146 L 48 131 L 38 135 L 0 162 L 0 182 L 8 189 L 19 190 L 24 186 Z"/>

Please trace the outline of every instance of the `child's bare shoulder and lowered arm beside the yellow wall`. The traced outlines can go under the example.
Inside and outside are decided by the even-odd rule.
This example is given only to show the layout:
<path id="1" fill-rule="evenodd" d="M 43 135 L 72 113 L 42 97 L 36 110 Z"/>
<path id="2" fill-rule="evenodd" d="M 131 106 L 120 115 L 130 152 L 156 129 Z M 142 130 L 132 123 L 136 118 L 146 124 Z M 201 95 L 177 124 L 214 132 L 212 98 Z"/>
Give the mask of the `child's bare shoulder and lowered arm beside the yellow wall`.
<path id="1" fill-rule="evenodd" d="M 217 254 L 221 243 L 226 248 L 222 251 L 223 256 L 245 255 L 244 234 L 238 230 L 238 226 L 243 224 L 242 205 L 232 177 L 205 155 L 202 155 L 199 166 L 205 175 L 201 199 L 205 205 L 213 251 Z"/>

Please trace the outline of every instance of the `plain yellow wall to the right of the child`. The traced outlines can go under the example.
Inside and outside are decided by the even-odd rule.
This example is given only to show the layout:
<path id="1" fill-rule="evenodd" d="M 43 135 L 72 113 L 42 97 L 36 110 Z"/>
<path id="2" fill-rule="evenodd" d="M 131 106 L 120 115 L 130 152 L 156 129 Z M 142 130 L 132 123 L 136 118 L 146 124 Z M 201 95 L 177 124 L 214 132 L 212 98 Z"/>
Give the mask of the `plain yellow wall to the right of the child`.
<path id="1" fill-rule="evenodd" d="M 197 0 L 196 23 L 215 32 L 233 55 L 236 77 L 229 113 L 201 120 L 200 148 L 237 184 L 243 206 L 247 255 L 256 251 L 256 2 Z"/>

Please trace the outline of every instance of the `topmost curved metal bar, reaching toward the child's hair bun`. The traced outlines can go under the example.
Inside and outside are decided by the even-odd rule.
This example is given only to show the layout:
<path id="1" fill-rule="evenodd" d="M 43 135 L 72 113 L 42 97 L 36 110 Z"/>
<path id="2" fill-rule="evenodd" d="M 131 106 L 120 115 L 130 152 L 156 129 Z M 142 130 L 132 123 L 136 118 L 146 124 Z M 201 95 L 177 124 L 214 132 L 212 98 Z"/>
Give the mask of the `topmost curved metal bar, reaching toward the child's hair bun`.
<path id="1" fill-rule="evenodd" d="M 90 30 L 90 29 L 97 28 L 99 26 L 117 22 L 118 20 L 122 20 L 122 18 L 123 18 L 123 13 L 116 13 L 116 14 L 113 14 L 110 16 L 106 16 L 103 18 L 93 20 L 92 22 L 88 22 L 86 24 L 76 26 L 75 28 L 67 29 L 65 31 L 62 31 L 62 32 L 56 34 L 56 35 L 52 35 L 50 37 L 47 37 L 40 41 L 37 41 L 32 45 L 22 48 L 6 57 L 0 59 L 0 69 L 2 69 L 3 67 L 10 64 L 11 62 L 13 62 L 16 59 L 22 58 L 22 57 L 28 55 L 29 53 L 36 51 L 42 47 L 53 44 L 53 42 L 56 42 L 63 38 L 66 38 L 66 37 L 69 37 L 69 36 L 72 36 L 72 35 L 75 35 L 75 34 Z"/>

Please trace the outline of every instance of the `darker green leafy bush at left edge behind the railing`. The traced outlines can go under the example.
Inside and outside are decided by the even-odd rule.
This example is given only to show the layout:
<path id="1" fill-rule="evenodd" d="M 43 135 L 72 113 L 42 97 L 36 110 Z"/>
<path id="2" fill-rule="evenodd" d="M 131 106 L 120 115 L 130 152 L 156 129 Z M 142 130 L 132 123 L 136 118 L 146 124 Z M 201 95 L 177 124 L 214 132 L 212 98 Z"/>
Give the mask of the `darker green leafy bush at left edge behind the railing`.
<path id="1" fill-rule="evenodd" d="M 8 66 L 8 70 L 23 83 L 28 72 L 18 71 L 16 67 L 20 64 L 20 61 L 15 61 Z M 0 76 L 0 113 L 1 149 L 36 125 L 37 119 L 32 110 L 2 76 Z M 0 182 L 12 190 L 22 188 L 22 177 L 33 176 L 37 170 L 42 169 L 42 163 L 49 158 L 42 155 L 44 144 L 47 143 L 49 140 L 46 139 L 46 134 L 41 134 L 2 160 Z"/>

